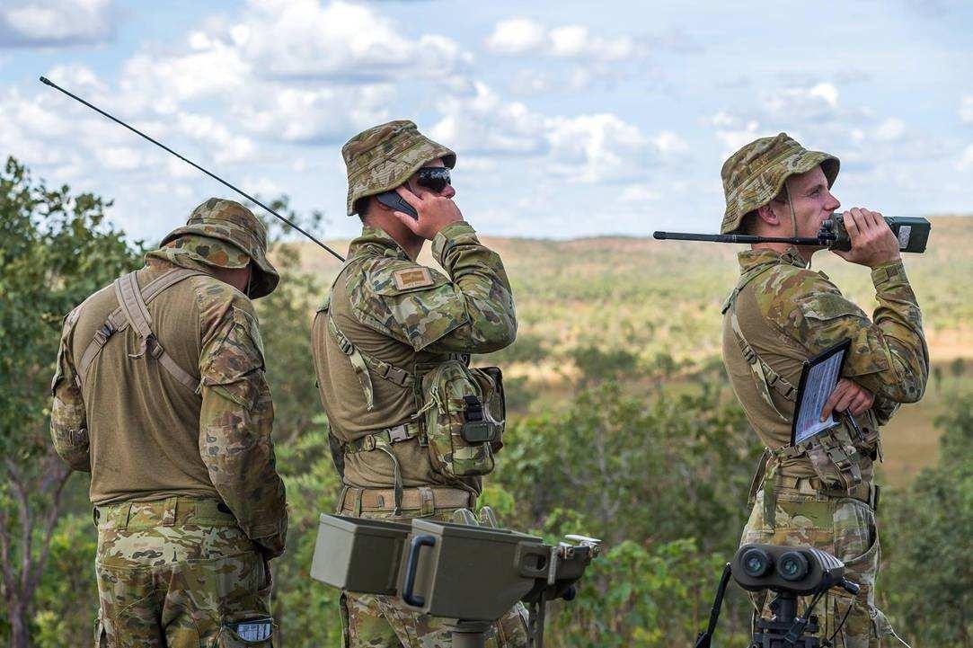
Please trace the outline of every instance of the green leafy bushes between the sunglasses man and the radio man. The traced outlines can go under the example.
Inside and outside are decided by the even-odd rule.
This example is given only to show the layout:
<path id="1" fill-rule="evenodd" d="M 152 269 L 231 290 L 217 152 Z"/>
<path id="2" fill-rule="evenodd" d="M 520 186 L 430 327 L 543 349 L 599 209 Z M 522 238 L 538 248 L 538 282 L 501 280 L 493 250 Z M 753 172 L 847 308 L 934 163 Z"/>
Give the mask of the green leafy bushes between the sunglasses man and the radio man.
<path id="1" fill-rule="evenodd" d="M 577 600 L 553 616 L 551 645 L 667 646 L 703 627 L 759 454 L 739 407 L 709 385 L 657 397 L 608 379 L 564 413 L 513 423 L 486 492 L 506 509 L 501 523 L 605 541 Z M 744 607 L 730 603 L 724 627 L 742 628 Z"/>

